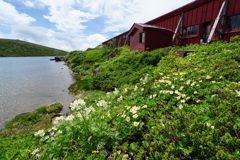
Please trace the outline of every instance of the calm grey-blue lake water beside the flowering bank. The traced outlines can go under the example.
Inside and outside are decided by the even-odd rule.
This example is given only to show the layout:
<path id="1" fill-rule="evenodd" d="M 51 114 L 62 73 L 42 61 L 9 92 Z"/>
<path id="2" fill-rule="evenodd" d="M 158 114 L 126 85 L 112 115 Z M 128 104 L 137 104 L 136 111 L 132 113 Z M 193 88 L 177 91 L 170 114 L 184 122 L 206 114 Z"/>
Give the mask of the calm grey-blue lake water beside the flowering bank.
<path id="1" fill-rule="evenodd" d="M 59 102 L 68 110 L 74 82 L 64 62 L 53 57 L 0 57 L 0 128 L 20 113 Z"/>

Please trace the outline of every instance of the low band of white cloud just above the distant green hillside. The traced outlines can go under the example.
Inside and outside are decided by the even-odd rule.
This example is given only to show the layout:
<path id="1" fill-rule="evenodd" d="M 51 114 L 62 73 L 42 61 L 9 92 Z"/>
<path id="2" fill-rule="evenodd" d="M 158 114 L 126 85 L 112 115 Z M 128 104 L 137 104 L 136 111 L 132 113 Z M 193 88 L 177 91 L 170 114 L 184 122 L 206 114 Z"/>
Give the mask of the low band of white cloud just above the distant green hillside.
<path id="1" fill-rule="evenodd" d="M 106 40 L 105 36 L 101 34 L 84 36 L 81 34 L 56 32 L 43 27 L 26 25 L 13 27 L 10 34 L 2 34 L 1 36 L 10 39 L 20 39 L 66 51 L 86 50 L 87 48 L 96 47 Z"/>

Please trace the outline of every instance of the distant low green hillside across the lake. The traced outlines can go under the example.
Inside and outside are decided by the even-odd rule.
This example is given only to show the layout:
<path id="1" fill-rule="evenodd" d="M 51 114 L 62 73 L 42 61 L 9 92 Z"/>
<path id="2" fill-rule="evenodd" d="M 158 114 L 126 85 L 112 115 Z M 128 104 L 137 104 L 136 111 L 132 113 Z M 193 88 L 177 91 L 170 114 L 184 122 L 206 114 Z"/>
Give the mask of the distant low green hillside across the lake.
<path id="1" fill-rule="evenodd" d="M 0 39 L 0 57 L 64 56 L 66 51 L 29 42 Z"/>

